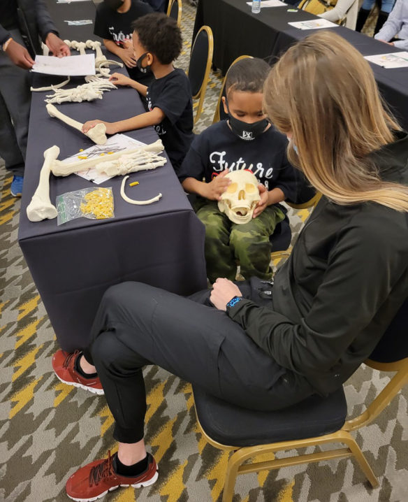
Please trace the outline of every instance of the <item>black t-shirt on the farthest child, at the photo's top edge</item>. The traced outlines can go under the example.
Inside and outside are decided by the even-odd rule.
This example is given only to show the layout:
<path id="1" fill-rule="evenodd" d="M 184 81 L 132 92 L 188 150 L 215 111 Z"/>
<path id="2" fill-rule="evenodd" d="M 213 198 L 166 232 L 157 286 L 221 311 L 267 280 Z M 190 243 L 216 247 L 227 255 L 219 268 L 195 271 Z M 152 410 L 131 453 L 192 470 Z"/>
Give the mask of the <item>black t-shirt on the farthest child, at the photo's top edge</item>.
<path id="1" fill-rule="evenodd" d="M 131 7 L 124 13 L 119 13 L 117 10 L 109 8 L 103 2 L 99 3 L 96 7 L 94 34 L 101 38 L 112 40 L 116 45 L 123 48 L 123 42 L 132 39 L 132 22 L 152 12 L 153 8 L 148 3 L 140 0 L 131 0 Z M 133 78 L 133 80 L 143 82 L 147 78 L 150 80 L 153 78 L 150 72 L 142 73 L 138 68 L 128 68 L 127 66 L 126 69 L 129 77 Z"/>

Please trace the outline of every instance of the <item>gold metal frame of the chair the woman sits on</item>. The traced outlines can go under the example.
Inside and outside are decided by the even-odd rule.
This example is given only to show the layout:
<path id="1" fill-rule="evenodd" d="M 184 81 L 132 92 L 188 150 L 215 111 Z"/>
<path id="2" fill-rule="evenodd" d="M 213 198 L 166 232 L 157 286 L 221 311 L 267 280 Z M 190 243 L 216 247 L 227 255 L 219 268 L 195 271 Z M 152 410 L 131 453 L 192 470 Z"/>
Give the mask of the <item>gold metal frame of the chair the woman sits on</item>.
<path id="1" fill-rule="evenodd" d="M 318 436 L 315 438 L 307 438 L 300 440 L 282 441 L 279 443 L 270 443 L 268 445 L 257 445 L 250 447 L 234 447 L 222 445 L 217 441 L 212 440 L 207 436 L 200 421 L 197 417 L 198 426 L 201 433 L 207 439 L 210 445 L 219 448 L 219 450 L 233 451 L 233 454 L 228 460 L 228 467 L 226 471 L 226 480 L 224 482 L 224 494 L 222 502 L 232 502 L 235 480 L 238 474 L 256 473 L 258 471 L 272 470 L 281 467 L 296 466 L 309 462 L 319 462 L 321 460 L 340 459 L 354 457 L 365 474 L 367 480 L 373 488 L 379 485 L 370 464 L 365 459 L 363 452 L 356 443 L 356 440 L 351 436 L 351 431 L 360 429 L 365 425 L 370 424 L 378 415 L 388 406 L 393 398 L 400 392 L 402 387 L 408 383 L 408 357 L 395 361 L 393 363 L 379 363 L 367 359 L 365 361 L 367 366 L 378 371 L 396 371 L 395 375 L 388 382 L 386 387 L 378 394 L 378 396 L 367 406 L 365 411 L 352 419 L 344 422 L 344 425 L 339 431 L 326 434 L 325 436 Z M 275 452 L 282 450 L 296 450 L 298 448 L 305 448 L 309 446 L 325 445 L 327 443 L 343 443 L 346 445 L 344 448 L 334 448 L 333 450 L 326 450 L 314 452 L 309 454 L 302 454 L 293 457 L 285 457 L 282 459 L 275 459 Z M 252 464 L 245 464 L 245 461 L 254 459 L 259 454 L 272 454 L 273 459 L 268 461 L 254 461 Z"/>

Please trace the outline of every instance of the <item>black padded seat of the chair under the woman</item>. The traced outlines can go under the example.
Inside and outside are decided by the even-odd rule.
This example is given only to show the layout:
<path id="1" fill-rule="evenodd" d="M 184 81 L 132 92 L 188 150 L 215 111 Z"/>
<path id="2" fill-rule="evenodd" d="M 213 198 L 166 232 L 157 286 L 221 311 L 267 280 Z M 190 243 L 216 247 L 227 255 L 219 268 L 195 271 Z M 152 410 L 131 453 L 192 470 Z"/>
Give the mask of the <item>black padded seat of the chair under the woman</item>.
<path id="1" fill-rule="evenodd" d="M 342 428 L 347 416 L 343 388 L 326 398 L 314 395 L 290 408 L 253 411 L 221 401 L 194 386 L 200 424 L 212 440 L 237 447 L 313 438 Z"/>

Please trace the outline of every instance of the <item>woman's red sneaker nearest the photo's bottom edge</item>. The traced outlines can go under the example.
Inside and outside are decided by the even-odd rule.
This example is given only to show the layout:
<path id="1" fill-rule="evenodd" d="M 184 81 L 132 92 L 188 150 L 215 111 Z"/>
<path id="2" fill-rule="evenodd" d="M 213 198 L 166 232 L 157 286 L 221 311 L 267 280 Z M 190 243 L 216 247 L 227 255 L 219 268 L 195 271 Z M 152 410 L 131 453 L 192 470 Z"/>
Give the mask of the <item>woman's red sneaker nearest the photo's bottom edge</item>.
<path id="1" fill-rule="evenodd" d="M 115 473 L 112 459 L 108 452 L 107 459 L 91 462 L 73 473 L 65 486 L 68 497 L 78 502 L 92 502 L 118 487 L 148 487 L 159 477 L 156 461 L 150 453 L 147 454 L 147 469 L 135 478 Z"/>

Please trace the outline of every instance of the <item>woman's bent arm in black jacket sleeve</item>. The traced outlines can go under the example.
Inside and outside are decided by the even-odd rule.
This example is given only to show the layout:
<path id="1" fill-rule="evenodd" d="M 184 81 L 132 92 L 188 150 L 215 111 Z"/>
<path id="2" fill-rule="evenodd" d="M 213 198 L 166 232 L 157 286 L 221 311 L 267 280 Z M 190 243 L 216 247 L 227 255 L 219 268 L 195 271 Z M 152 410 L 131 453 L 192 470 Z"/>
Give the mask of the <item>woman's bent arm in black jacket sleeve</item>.
<path id="1" fill-rule="evenodd" d="M 378 228 L 384 231 L 381 245 Z M 329 371 L 407 271 L 407 248 L 400 253 L 393 232 L 388 220 L 373 222 L 370 214 L 343 229 L 312 306 L 300 322 L 247 299 L 233 306 L 229 317 L 284 368 L 314 377 Z M 360 356 L 368 355 L 360 347 Z"/>

